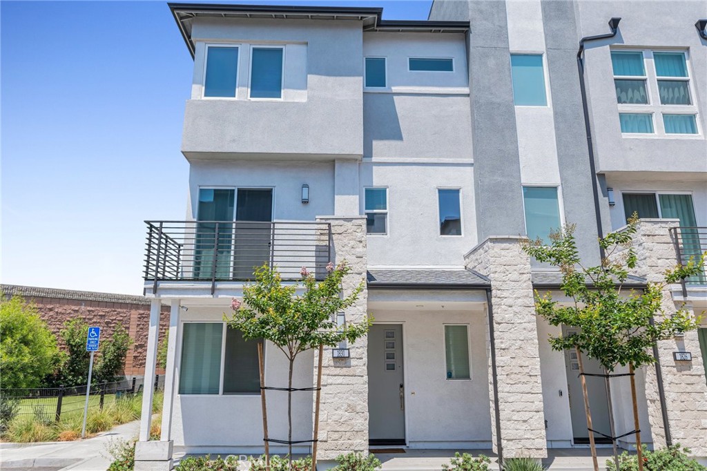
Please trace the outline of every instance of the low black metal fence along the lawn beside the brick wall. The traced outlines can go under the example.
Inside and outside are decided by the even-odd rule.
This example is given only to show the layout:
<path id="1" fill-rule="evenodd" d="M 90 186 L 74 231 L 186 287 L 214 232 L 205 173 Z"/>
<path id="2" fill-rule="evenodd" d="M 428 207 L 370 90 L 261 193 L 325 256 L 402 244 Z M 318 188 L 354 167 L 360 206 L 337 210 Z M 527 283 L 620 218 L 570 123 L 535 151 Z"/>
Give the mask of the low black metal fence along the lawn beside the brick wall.
<path id="1" fill-rule="evenodd" d="M 159 375 L 151 388 L 158 390 Z M 89 409 L 103 410 L 105 405 L 141 393 L 143 385 L 136 378 L 115 383 L 92 385 L 88 397 Z M 59 421 L 62 415 L 82 412 L 86 405 L 86 385 L 59 388 L 15 388 L 0 390 L 2 407 L 13 409 L 16 415 L 33 415 L 41 421 Z"/>

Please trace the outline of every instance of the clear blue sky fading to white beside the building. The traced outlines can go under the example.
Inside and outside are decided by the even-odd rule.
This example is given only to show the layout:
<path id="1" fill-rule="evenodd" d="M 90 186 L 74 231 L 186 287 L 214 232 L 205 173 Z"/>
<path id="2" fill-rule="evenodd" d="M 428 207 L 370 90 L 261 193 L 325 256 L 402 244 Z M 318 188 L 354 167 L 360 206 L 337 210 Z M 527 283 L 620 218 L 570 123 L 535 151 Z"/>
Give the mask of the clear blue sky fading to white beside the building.
<path id="1" fill-rule="evenodd" d="M 228 3 L 423 20 L 431 0 Z M 192 66 L 166 2 L 0 2 L 3 283 L 142 292 L 143 221 L 185 219 Z"/>

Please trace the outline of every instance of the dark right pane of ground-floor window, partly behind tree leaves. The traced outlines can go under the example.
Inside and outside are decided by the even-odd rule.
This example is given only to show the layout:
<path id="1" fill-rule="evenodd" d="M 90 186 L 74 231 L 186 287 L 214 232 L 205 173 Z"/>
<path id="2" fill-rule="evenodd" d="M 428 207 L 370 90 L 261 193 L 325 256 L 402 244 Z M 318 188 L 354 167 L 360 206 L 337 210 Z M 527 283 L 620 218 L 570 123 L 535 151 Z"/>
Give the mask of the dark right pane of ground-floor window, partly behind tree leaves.
<path id="1" fill-rule="evenodd" d="M 226 328 L 223 394 L 259 394 L 259 340 L 245 340 L 240 330 Z"/>

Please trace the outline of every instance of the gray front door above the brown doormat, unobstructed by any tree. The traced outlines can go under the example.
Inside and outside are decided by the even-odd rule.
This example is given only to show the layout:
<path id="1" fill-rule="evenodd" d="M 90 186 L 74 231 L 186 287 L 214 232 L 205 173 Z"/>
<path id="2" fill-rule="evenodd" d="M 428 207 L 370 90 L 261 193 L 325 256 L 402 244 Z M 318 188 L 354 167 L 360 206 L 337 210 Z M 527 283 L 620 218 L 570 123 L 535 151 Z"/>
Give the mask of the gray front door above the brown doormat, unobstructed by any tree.
<path id="1" fill-rule="evenodd" d="M 368 332 L 368 438 L 371 445 L 405 444 L 402 325 Z"/>

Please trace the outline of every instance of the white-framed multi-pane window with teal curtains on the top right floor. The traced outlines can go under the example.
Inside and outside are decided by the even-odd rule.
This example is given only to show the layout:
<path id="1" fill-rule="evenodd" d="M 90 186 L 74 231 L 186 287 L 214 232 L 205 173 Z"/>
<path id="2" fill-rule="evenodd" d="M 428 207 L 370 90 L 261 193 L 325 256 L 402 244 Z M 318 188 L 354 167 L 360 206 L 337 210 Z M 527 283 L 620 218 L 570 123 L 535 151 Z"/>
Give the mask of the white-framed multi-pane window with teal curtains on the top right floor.
<path id="1" fill-rule="evenodd" d="M 612 50 L 611 54 L 622 133 L 699 133 L 686 52 Z"/>

